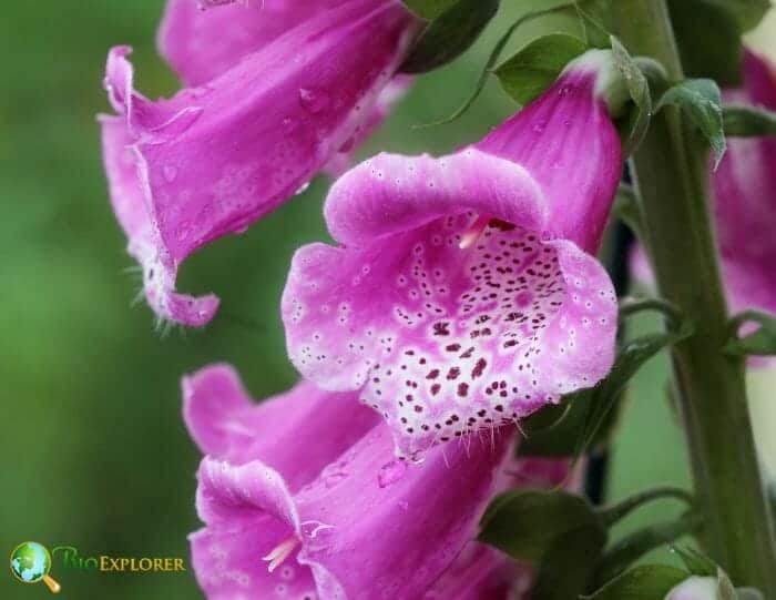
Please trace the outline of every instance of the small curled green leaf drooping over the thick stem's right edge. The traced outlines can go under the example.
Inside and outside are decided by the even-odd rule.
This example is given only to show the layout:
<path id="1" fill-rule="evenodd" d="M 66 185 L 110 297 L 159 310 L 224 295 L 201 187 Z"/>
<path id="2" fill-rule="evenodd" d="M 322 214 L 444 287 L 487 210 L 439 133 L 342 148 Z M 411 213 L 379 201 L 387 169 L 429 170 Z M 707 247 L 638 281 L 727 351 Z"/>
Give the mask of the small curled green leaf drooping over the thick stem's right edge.
<path id="1" fill-rule="evenodd" d="M 722 98 L 719 88 L 711 79 L 687 79 L 670 88 L 657 103 L 656 110 L 667 105 L 682 109 L 701 130 L 719 164 L 727 143 L 722 122 Z"/>

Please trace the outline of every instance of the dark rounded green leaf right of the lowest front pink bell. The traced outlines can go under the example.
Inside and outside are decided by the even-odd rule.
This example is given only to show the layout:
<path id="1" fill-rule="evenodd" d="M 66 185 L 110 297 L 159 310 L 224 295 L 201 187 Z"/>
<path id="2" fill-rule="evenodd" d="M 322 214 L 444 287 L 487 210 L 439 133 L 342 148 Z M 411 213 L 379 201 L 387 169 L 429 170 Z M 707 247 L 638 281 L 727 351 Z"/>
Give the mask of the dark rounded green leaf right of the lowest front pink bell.
<path id="1" fill-rule="evenodd" d="M 573 531 L 606 537 L 605 527 L 584 498 L 560 490 L 517 489 L 491 501 L 478 539 L 514 559 L 539 562 Z"/>

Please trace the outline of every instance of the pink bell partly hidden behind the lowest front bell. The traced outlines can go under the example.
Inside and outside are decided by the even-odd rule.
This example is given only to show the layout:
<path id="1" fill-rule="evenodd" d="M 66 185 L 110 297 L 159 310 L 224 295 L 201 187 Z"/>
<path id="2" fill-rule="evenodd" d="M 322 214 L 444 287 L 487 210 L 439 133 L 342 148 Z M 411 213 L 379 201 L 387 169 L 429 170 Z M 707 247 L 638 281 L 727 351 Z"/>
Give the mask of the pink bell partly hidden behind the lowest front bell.
<path id="1" fill-rule="evenodd" d="M 184 420 L 204 454 L 232 465 L 261 459 L 293 490 L 379 421 L 356 394 L 327 393 L 309 383 L 256 404 L 228 365 L 184 377 L 182 387 Z M 300 439 L 315 440 L 315 451 Z"/>

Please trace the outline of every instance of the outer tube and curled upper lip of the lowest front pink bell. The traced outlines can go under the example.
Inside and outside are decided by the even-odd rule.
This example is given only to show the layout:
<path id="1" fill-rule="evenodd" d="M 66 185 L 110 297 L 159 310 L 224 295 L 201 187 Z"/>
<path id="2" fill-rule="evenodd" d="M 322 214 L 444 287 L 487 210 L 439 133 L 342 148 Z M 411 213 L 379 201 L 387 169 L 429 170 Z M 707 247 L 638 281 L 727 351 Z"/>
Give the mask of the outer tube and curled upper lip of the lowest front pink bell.
<path id="1" fill-rule="evenodd" d="M 295 497 L 259 461 L 233 467 L 205 458 L 197 510 L 211 536 L 232 533 L 228 565 L 241 549 L 263 552 L 296 536 L 302 550 L 285 565 L 309 567 L 319 598 L 377 590 L 416 598 L 474 537 L 512 438 L 439 448 L 415 466 L 392 459 L 390 433 L 379 425 Z M 207 581 L 212 567 L 202 568 Z"/>

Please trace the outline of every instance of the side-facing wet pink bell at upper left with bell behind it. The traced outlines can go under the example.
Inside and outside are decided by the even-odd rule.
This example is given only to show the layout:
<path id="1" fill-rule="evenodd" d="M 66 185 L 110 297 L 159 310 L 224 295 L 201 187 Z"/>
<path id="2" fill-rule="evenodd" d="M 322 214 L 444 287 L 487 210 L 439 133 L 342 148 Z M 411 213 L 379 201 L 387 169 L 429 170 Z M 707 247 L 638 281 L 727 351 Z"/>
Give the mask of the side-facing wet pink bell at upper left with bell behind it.
<path id="1" fill-rule="evenodd" d="M 266 31 L 254 9 L 218 7 L 197 17 L 188 38 L 184 13 L 192 7 L 173 2 L 162 47 L 201 85 L 169 100 L 134 90 L 129 48 L 109 54 L 105 88 L 119 115 L 100 120 L 111 201 L 161 318 L 200 326 L 213 317 L 215 296 L 175 293 L 181 262 L 244 231 L 327 163 L 341 162 L 340 151 L 374 126 L 372 109 L 418 30 L 399 0 L 304 3 L 318 10 L 267 4 L 275 12 Z M 202 24 L 219 11 L 231 11 L 235 38 L 224 34 L 224 21 L 216 21 L 221 29 Z M 266 34 L 255 41 L 238 34 L 257 27 Z M 242 42 L 208 45 L 216 31 Z"/>

